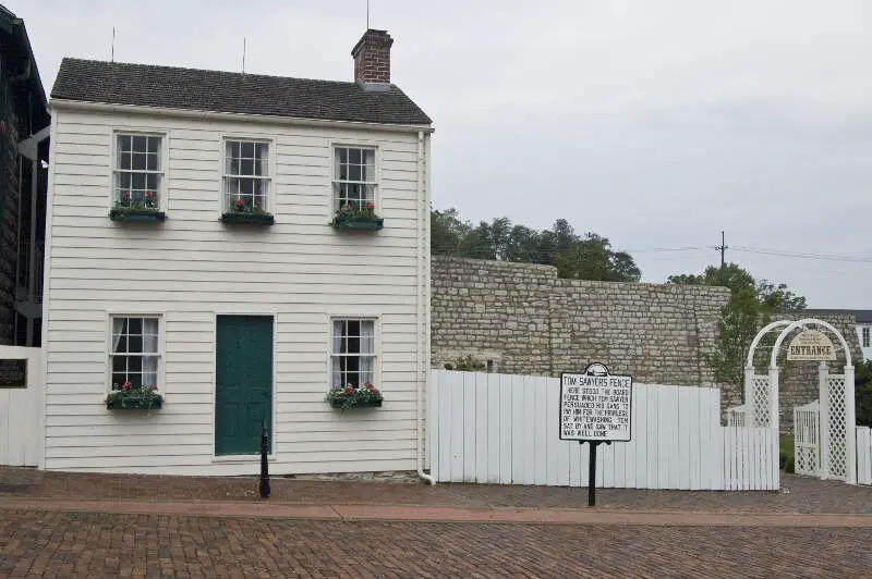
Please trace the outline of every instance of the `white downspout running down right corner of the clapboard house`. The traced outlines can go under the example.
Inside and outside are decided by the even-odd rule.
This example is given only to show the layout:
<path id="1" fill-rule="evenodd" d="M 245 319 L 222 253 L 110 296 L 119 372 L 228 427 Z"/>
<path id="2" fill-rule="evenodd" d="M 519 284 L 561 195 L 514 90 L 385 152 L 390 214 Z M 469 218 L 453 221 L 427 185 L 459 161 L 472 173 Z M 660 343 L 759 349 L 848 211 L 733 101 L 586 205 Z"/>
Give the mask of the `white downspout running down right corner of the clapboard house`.
<path id="1" fill-rule="evenodd" d="M 417 409 L 417 476 L 429 484 L 436 484 L 436 479 L 424 472 L 424 384 L 429 385 L 429 369 L 426 367 L 429 359 L 429 276 L 426 269 L 429 258 L 429 247 L 427 239 L 427 218 L 429 215 L 429 187 L 425 185 L 424 170 L 429 171 L 429 165 L 424 164 L 424 132 L 417 132 L 417 200 L 420 204 L 417 214 L 417 347 L 415 348 L 415 361 L 417 362 L 417 387 L 416 409 Z"/>

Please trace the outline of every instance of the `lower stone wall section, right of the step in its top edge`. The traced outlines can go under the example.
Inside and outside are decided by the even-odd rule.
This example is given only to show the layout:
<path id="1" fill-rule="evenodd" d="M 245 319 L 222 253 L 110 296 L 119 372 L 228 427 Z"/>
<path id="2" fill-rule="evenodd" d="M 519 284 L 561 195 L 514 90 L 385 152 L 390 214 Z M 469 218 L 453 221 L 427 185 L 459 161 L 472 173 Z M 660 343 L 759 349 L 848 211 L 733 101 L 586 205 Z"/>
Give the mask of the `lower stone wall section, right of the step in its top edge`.
<path id="1" fill-rule="evenodd" d="M 714 385 L 723 287 L 558 280 L 552 299 L 555 369 L 603 360 L 643 383 Z"/>

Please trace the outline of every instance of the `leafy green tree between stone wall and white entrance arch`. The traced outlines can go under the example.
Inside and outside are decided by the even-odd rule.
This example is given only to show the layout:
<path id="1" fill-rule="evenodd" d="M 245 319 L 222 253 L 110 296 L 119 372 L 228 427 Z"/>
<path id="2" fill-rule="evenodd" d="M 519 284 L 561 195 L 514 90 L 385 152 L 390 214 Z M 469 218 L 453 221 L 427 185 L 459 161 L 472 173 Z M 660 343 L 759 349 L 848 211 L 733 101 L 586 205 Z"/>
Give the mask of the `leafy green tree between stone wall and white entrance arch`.
<path id="1" fill-rule="evenodd" d="M 742 383 L 748 348 L 760 329 L 774 315 L 806 309 L 806 298 L 788 290 L 787 285 L 774 284 L 767 280 L 755 281 L 747 270 L 736 263 L 723 268 L 710 266 L 701 275 L 670 275 L 667 283 L 723 285 L 730 290 L 729 301 L 722 310 L 715 350 L 708 356 L 715 380 L 724 384 Z"/>

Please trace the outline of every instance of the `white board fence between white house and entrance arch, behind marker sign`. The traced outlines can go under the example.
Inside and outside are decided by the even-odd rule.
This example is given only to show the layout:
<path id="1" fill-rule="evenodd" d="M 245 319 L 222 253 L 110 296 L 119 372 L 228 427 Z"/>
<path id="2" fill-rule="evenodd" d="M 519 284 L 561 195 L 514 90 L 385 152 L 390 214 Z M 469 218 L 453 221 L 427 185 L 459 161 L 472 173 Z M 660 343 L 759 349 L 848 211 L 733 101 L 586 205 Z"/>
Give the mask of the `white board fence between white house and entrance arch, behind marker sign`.
<path id="1" fill-rule="evenodd" d="M 589 445 L 559 440 L 556 378 L 433 370 L 428 461 L 439 482 L 586 486 Z M 778 435 L 720 426 L 716 389 L 633 384 L 632 441 L 601 445 L 596 485 L 777 490 Z"/>

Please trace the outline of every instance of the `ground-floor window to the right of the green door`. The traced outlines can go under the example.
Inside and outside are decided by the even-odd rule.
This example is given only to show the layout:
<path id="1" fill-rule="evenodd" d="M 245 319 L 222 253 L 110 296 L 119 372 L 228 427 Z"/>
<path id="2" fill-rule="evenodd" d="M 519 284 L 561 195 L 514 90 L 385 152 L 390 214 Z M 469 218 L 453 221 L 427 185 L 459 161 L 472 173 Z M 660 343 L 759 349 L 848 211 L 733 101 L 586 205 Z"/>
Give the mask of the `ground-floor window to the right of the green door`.
<path id="1" fill-rule="evenodd" d="M 375 321 L 334 320 L 330 361 L 332 387 L 344 387 L 349 384 L 358 387 L 373 383 Z"/>

